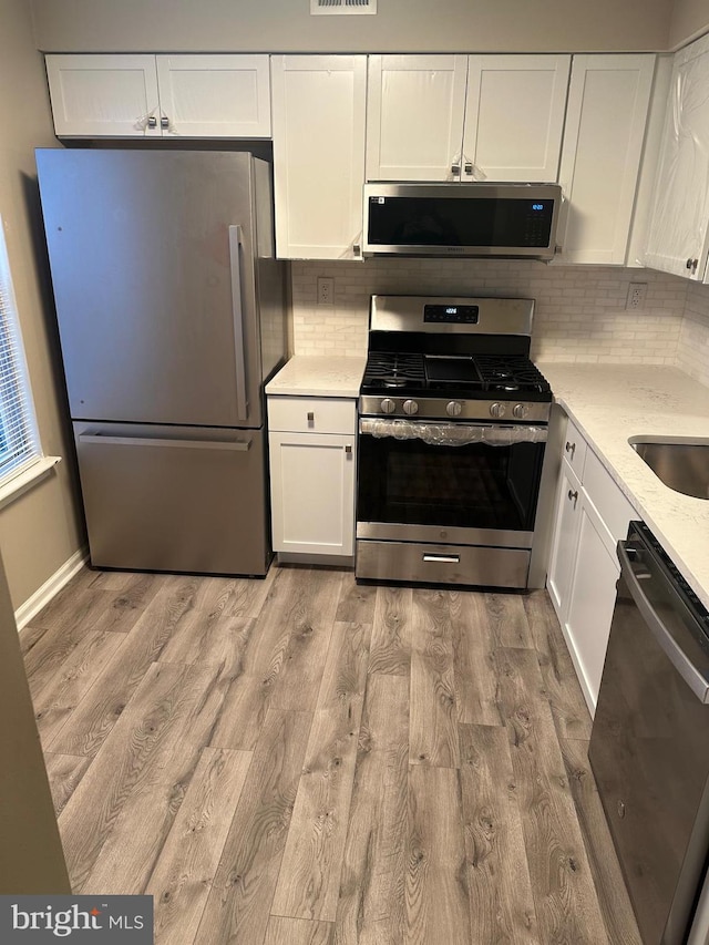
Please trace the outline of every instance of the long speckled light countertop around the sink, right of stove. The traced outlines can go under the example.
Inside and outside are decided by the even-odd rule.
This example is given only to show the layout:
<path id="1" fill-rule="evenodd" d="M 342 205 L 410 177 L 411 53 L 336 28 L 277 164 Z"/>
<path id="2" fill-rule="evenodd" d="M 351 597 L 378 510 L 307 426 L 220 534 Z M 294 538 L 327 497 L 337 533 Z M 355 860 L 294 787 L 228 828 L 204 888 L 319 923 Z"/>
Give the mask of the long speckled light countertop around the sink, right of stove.
<path id="1" fill-rule="evenodd" d="M 657 364 L 537 363 L 555 400 L 709 607 L 709 500 L 666 486 L 628 444 L 628 436 L 709 439 L 709 388 Z"/>

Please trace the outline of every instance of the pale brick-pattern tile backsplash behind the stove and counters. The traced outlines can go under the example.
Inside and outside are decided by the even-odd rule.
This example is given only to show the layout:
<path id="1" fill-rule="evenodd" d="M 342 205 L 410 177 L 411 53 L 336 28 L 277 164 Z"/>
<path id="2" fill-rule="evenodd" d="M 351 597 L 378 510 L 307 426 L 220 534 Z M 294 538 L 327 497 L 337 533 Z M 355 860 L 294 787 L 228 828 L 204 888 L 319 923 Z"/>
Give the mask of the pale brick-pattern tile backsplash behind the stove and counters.
<path id="1" fill-rule="evenodd" d="M 317 277 L 335 304 L 317 305 Z M 709 287 L 650 269 L 546 266 L 499 259 L 368 259 L 291 264 L 297 355 L 363 355 L 369 297 L 522 296 L 536 299 L 532 357 L 556 361 L 677 364 L 709 383 Z M 626 309 L 630 283 L 647 284 Z"/>

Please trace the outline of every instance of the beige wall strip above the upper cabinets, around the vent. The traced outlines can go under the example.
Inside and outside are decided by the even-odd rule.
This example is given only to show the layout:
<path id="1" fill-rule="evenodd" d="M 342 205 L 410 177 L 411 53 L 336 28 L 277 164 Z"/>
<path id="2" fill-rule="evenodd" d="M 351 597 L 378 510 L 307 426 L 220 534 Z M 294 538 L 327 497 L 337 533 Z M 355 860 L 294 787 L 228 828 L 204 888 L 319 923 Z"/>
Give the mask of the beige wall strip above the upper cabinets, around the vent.
<path id="1" fill-rule="evenodd" d="M 672 0 L 379 0 L 376 16 L 311 17 L 309 0 L 31 3 L 38 48 L 53 52 L 666 50 L 672 7 Z"/>

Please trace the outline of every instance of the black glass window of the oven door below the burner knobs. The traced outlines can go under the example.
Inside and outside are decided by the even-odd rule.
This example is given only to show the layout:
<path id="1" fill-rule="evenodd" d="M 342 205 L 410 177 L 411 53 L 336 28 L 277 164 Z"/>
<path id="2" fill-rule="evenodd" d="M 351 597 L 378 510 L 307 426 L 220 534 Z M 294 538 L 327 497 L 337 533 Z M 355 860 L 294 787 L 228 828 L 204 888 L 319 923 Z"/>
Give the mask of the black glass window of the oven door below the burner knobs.
<path id="1" fill-rule="evenodd" d="M 544 443 L 359 438 L 360 522 L 532 531 Z"/>

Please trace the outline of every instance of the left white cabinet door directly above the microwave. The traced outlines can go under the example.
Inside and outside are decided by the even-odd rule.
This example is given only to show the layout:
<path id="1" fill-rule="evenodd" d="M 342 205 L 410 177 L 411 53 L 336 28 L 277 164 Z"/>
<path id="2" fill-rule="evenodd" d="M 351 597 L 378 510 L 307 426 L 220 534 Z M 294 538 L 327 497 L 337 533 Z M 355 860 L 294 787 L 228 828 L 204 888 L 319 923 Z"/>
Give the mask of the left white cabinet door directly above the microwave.
<path id="1" fill-rule="evenodd" d="M 460 179 L 466 78 L 465 55 L 369 57 L 368 181 Z"/>

